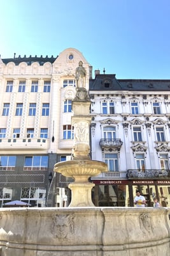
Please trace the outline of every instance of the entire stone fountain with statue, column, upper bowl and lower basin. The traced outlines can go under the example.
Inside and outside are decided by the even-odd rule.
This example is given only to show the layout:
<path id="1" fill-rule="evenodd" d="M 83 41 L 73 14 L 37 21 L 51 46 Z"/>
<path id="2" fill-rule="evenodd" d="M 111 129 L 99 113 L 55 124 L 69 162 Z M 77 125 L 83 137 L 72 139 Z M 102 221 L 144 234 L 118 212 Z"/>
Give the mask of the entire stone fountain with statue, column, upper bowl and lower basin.
<path id="1" fill-rule="evenodd" d="M 0 256 L 169 256 L 170 209 L 94 207 L 89 177 L 107 166 L 90 159 L 90 100 L 81 62 L 76 77 L 72 159 L 54 166 L 74 179 L 71 204 L 0 209 Z"/>

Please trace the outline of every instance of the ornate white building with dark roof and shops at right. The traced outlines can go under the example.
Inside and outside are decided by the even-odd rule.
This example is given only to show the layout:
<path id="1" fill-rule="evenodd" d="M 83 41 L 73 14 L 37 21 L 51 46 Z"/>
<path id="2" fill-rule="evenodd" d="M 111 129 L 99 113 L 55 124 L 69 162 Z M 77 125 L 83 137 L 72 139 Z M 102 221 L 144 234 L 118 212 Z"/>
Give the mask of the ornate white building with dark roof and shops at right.
<path id="1" fill-rule="evenodd" d="M 134 206 L 139 190 L 146 205 L 170 205 L 170 80 L 90 79 L 92 159 L 108 173 L 92 177 L 94 204 Z"/>

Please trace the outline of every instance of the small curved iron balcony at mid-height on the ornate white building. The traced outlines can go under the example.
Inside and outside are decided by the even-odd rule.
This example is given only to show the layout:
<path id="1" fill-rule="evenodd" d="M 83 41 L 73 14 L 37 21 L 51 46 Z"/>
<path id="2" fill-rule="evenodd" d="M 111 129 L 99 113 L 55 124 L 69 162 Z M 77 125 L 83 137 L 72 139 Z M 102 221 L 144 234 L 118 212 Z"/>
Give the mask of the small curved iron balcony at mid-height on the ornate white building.
<path id="1" fill-rule="evenodd" d="M 101 146 L 101 149 L 104 151 L 104 148 L 110 148 L 110 151 L 112 149 L 117 148 L 118 151 L 120 151 L 120 148 L 122 147 L 123 141 L 120 139 L 101 139 L 99 142 L 99 145 Z"/>

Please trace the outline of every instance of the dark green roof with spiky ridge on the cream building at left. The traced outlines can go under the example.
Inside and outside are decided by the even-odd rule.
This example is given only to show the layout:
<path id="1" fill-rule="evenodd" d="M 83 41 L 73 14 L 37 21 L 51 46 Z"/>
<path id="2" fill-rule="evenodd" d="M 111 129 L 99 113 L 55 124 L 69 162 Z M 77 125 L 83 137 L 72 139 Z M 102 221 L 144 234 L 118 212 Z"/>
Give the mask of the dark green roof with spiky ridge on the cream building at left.
<path id="1" fill-rule="evenodd" d="M 57 56 L 58 57 L 58 56 Z M 14 58 L 7 58 L 7 59 L 1 59 L 3 61 L 4 64 L 8 64 L 9 62 L 14 62 L 15 65 L 19 65 L 21 62 L 26 62 L 27 65 L 31 65 L 34 62 L 38 62 L 40 66 L 44 65 L 44 63 L 46 62 L 50 62 L 53 63 L 57 57 L 53 57 L 53 55 L 51 57 L 43 57 L 42 55 L 40 57 L 38 56 L 29 56 L 26 57 L 26 55 L 24 55 L 24 57 L 21 57 L 20 55 L 16 58 L 14 56 Z"/>

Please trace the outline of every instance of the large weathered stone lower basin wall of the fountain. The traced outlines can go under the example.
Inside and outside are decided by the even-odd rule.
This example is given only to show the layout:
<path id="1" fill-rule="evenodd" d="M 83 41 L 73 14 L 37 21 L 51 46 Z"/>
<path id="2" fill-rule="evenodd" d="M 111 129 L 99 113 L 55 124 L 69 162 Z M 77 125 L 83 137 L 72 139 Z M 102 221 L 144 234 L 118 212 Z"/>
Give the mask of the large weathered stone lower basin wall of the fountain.
<path id="1" fill-rule="evenodd" d="M 1 256 L 169 256 L 170 209 L 1 208 Z"/>

